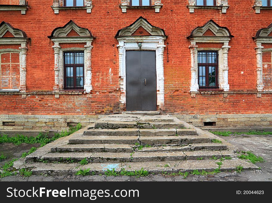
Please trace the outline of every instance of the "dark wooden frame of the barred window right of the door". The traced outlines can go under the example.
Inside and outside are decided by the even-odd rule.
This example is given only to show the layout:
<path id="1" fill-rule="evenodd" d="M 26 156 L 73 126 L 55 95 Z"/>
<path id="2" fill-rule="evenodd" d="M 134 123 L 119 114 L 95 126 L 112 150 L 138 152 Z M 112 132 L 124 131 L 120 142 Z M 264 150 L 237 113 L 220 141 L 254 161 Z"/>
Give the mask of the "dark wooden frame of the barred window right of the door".
<path id="1" fill-rule="evenodd" d="M 199 67 L 200 66 L 205 66 L 205 84 L 206 86 L 199 86 L 199 89 L 205 89 L 205 90 L 218 90 L 219 89 L 219 73 L 218 73 L 218 51 L 214 51 L 214 50 L 207 50 L 207 51 L 198 51 L 198 53 L 216 53 L 216 63 L 198 63 L 198 85 L 199 83 Z M 208 62 L 208 54 L 205 56 L 206 61 Z M 209 66 L 215 66 L 215 86 L 209 86 Z M 203 76 L 203 75 L 202 75 Z"/>

